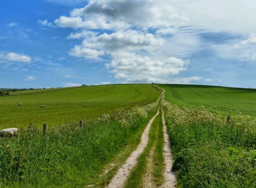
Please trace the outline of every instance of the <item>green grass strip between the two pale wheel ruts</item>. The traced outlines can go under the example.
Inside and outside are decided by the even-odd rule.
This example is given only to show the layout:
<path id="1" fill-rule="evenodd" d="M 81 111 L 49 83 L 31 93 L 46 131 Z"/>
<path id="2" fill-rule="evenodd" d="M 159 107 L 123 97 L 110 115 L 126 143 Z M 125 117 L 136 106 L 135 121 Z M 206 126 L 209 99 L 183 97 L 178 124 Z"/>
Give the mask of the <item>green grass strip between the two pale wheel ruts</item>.
<path id="1" fill-rule="evenodd" d="M 151 157 L 149 155 L 152 149 L 154 150 L 152 166 L 154 183 L 155 185 L 162 184 L 162 170 L 164 169 L 163 142 L 162 119 L 161 115 L 159 114 L 150 127 L 149 142 L 142 154 L 140 154 L 138 157 L 138 162 L 134 169 L 132 169 L 130 176 L 125 184 L 126 188 L 137 188 L 142 186 L 143 176 L 147 170 L 147 157 Z"/>

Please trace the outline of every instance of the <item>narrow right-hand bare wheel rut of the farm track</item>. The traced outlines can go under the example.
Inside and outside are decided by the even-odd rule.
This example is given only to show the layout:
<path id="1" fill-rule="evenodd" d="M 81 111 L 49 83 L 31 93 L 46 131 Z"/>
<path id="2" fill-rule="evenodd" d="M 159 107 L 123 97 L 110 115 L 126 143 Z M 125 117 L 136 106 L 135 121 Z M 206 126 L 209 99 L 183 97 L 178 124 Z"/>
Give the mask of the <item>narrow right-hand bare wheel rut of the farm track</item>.
<path id="1" fill-rule="evenodd" d="M 164 120 L 164 111 L 162 110 L 162 120 L 163 120 L 163 131 L 164 131 L 164 161 L 165 161 L 165 169 L 164 169 L 164 178 L 165 183 L 162 187 L 175 187 L 176 185 L 176 175 L 175 172 L 172 171 L 173 157 L 172 151 L 170 148 L 170 140 L 167 134 L 166 123 Z"/>

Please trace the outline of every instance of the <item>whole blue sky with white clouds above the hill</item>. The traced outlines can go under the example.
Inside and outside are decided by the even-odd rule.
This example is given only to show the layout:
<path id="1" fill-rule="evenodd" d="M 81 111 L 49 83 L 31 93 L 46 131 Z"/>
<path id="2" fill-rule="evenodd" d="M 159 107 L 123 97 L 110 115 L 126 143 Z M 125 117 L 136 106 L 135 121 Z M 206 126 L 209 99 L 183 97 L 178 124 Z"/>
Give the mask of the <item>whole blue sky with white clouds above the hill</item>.
<path id="1" fill-rule="evenodd" d="M 0 2 L 0 88 L 256 88 L 256 1 Z"/>

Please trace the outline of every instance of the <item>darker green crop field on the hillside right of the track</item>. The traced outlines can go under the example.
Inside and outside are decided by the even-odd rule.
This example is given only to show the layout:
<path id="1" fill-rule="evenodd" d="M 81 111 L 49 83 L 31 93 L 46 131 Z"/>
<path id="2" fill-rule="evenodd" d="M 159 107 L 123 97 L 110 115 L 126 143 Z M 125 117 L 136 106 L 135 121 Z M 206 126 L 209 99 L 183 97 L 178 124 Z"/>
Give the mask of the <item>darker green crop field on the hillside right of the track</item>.
<path id="1" fill-rule="evenodd" d="M 158 84 L 157 86 L 165 89 L 166 99 L 169 102 L 179 106 L 203 105 L 206 109 L 214 106 L 227 114 L 239 110 L 242 114 L 256 116 L 256 89 L 180 84 Z"/>

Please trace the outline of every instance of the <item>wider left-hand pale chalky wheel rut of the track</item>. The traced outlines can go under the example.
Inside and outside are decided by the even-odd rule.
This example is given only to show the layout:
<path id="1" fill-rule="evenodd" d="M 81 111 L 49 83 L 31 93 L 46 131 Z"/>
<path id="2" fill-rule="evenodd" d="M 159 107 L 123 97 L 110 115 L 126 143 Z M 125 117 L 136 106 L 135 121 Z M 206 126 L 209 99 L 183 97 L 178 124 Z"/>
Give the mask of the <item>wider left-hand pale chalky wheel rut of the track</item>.
<path id="1" fill-rule="evenodd" d="M 118 169 L 114 178 L 112 178 L 109 185 L 106 186 L 107 188 L 120 188 L 124 186 L 124 183 L 129 177 L 130 171 L 137 163 L 137 157 L 143 152 L 144 148 L 147 146 L 147 143 L 149 141 L 150 126 L 154 121 L 155 117 L 157 117 L 157 115 L 159 115 L 159 109 L 157 110 L 157 113 L 154 115 L 154 117 L 151 118 L 144 132 L 142 133 L 141 141 L 140 144 L 137 146 L 137 149 L 130 154 L 130 156 L 126 159 L 126 162 L 121 166 L 120 169 Z"/>

